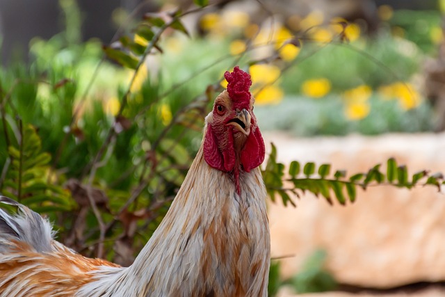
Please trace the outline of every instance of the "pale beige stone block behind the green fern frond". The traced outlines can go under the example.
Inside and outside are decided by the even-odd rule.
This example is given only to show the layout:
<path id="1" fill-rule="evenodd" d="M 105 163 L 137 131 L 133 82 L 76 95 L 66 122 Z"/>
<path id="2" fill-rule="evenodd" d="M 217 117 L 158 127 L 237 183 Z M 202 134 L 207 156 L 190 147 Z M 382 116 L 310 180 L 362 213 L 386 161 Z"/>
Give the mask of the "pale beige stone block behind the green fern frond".
<path id="1" fill-rule="evenodd" d="M 269 133 L 265 140 L 275 143 L 283 163 L 328 162 L 356 173 L 376 163 L 385 170 L 394 156 L 411 174 L 445 172 L 445 134 L 295 139 Z M 360 191 L 346 207 L 312 195 L 297 204 L 269 205 L 272 257 L 285 257 L 284 277 L 298 273 L 302 262 L 323 248 L 327 268 L 342 283 L 386 288 L 445 280 L 445 195 L 436 188 L 378 186 Z"/>

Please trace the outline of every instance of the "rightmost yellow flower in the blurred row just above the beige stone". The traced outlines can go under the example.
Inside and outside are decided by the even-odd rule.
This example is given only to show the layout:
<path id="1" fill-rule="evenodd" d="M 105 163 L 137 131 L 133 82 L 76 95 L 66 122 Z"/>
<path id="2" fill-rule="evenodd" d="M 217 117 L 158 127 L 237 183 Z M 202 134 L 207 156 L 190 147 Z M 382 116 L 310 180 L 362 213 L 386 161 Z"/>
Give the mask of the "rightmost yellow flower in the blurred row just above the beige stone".
<path id="1" fill-rule="evenodd" d="M 399 104 L 405 110 L 414 109 L 421 103 L 421 97 L 411 83 L 392 83 L 381 86 L 378 92 L 385 99 L 398 99 Z"/>

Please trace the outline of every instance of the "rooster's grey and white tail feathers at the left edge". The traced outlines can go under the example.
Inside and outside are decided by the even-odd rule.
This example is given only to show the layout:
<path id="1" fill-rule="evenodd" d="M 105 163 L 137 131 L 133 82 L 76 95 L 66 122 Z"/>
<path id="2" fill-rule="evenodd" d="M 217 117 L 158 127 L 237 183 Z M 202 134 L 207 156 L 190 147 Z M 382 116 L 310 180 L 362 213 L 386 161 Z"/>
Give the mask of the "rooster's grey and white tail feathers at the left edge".
<path id="1" fill-rule="evenodd" d="M 51 223 L 23 204 L 0 195 L 0 202 L 18 208 L 16 215 L 0 209 L 0 253 L 12 248 L 11 241 L 27 243 L 36 252 L 51 251 L 55 232 Z"/>

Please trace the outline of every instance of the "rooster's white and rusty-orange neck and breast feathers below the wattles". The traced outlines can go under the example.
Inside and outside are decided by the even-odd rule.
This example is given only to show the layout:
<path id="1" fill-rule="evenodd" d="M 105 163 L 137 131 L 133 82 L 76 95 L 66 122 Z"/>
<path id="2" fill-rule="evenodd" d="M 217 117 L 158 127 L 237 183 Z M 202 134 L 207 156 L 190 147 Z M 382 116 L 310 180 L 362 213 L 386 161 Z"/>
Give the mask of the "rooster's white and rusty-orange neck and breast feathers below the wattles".
<path id="1" fill-rule="evenodd" d="M 231 175 L 200 148 L 170 210 L 129 268 L 103 268 L 77 296 L 267 296 L 270 236 L 259 168 Z"/>

